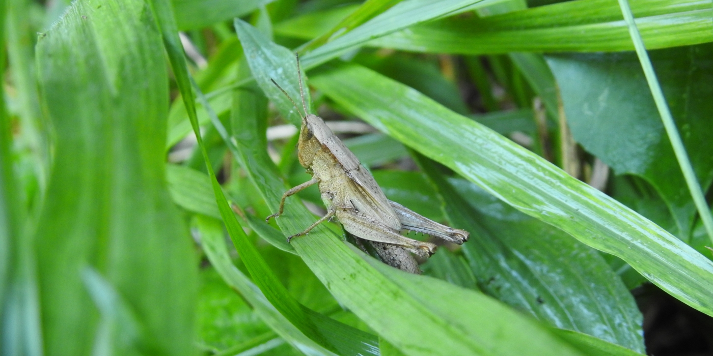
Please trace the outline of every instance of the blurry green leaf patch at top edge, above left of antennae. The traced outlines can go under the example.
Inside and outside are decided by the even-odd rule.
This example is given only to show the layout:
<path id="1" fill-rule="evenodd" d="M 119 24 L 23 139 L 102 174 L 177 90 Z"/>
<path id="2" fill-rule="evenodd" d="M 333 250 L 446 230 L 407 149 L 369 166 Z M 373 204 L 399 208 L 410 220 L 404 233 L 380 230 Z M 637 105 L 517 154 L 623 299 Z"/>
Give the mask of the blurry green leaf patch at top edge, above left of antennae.
<path id="1" fill-rule="evenodd" d="M 275 0 L 171 0 L 180 30 L 210 26 L 241 17 Z"/>

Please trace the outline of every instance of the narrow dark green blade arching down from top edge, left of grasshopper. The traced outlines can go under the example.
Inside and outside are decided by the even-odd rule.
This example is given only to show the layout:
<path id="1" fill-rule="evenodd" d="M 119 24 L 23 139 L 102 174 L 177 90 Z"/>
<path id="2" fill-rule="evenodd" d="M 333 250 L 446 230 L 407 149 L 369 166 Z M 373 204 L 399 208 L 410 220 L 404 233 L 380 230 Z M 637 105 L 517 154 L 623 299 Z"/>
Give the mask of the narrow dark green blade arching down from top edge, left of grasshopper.
<path id="1" fill-rule="evenodd" d="M 205 95 L 200 93 L 200 88 L 195 85 L 195 81 L 188 75 L 183 46 L 178 38 L 170 4 L 168 4 L 166 0 L 154 0 L 152 5 L 152 10 L 155 16 L 157 16 L 157 20 L 163 32 L 166 51 L 168 52 L 173 72 L 176 75 L 176 81 L 183 97 L 186 110 L 188 111 L 193 132 L 198 140 L 203 159 L 205 159 L 207 173 L 213 187 L 213 194 L 215 195 L 218 210 L 230 235 L 230 239 L 232 239 L 235 248 L 240 251 L 240 256 L 245 262 L 248 271 L 250 271 L 253 281 L 255 281 L 257 286 L 260 287 L 260 290 L 265 293 L 267 300 L 270 300 L 270 303 L 279 310 L 279 313 L 282 313 L 290 323 L 302 331 L 302 333 L 308 335 L 310 339 L 319 343 L 319 345 L 327 347 L 331 351 L 338 350 L 345 354 L 356 354 L 360 352 L 368 354 L 369 350 L 376 347 L 371 346 L 371 344 L 376 344 L 375 337 L 350 328 L 347 325 L 327 318 L 301 305 L 292 295 L 289 295 L 287 289 L 279 282 L 275 273 L 267 266 L 265 260 L 260 256 L 255 246 L 253 246 L 252 241 L 247 239 L 245 231 L 242 230 L 242 227 L 235 218 L 235 214 L 233 214 L 225 199 L 225 195 L 222 192 L 220 184 L 217 182 L 215 172 L 213 172 L 210 164 L 210 159 L 200 136 L 200 127 L 198 126 L 198 117 L 193 100 L 193 88 L 195 88 L 198 93 L 198 98 L 200 98 L 202 105 L 205 106 L 205 109 L 211 116 L 210 119 L 213 121 L 215 128 L 217 130 L 220 128 L 218 132 L 221 137 L 227 139 L 225 127 L 223 127 L 217 115 L 215 115 L 215 112 L 210 108 L 210 104 L 205 98 Z M 261 36 L 259 34 L 257 35 Z M 251 97 L 251 99 L 255 99 L 255 97 Z M 255 112 L 257 112 L 255 110 L 260 110 L 260 105 L 257 101 L 252 102 L 252 105 L 253 106 L 248 107 L 248 109 L 250 110 L 249 112 L 254 115 Z M 226 144 L 228 143 L 233 144 L 233 142 L 226 140 Z"/>

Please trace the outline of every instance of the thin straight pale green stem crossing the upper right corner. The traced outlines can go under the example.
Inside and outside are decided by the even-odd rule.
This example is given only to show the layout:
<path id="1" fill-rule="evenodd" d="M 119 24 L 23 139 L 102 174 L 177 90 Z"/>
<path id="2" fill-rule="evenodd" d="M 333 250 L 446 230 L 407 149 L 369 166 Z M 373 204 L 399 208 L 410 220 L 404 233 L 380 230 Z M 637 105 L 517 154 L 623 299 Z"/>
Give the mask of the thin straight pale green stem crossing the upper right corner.
<path id="1" fill-rule="evenodd" d="M 708 207 L 706 199 L 703 196 L 701 184 L 699 184 L 696 173 L 693 171 L 693 166 L 686 153 L 686 148 L 683 146 L 681 135 L 678 133 L 676 123 L 671 115 L 671 110 L 666 103 L 664 93 L 661 90 L 661 85 L 659 85 L 659 80 L 656 78 L 654 67 L 651 65 L 648 53 L 646 53 L 646 47 L 644 46 L 644 41 L 642 40 L 639 29 L 634 21 L 634 15 L 629 7 L 629 2 L 627 0 L 619 0 L 619 6 L 622 9 L 622 14 L 624 14 L 624 19 L 629 27 L 629 33 L 632 41 L 634 42 L 636 54 L 639 56 L 639 61 L 644 69 L 646 81 L 649 84 L 651 95 L 654 97 L 656 108 L 659 110 L 659 115 L 661 115 L 661 120 L 666 128 L 669 141 L 673 146 L 673 151 L 676 154 L 678 164 L 681 166 L 683 177 L 686 179 L 686 185 L 688 186 L 689 192 L 691 192 L 693 201 L 696 204 L 696 209 L 698 209 L 698 214 L 701 216 L 701 220 L 706 228 L 708 238 L 711 242 L 713 242 L 713 216 L 711 215 L 710 208 Z"/>

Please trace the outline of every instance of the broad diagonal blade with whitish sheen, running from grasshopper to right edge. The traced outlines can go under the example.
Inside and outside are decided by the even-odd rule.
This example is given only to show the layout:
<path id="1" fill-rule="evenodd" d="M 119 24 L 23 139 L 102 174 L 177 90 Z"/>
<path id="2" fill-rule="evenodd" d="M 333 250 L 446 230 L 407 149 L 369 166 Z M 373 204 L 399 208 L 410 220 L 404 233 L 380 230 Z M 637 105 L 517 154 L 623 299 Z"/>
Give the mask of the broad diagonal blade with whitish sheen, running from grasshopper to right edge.
<path id="1" fill-rule="evenodd" d="M 664 229 L 486 127 L 359 66 L 311 83 L 387 135 L 516 209 L 619 256 L 667 293 L 713 315 L 713 263 Z"/>

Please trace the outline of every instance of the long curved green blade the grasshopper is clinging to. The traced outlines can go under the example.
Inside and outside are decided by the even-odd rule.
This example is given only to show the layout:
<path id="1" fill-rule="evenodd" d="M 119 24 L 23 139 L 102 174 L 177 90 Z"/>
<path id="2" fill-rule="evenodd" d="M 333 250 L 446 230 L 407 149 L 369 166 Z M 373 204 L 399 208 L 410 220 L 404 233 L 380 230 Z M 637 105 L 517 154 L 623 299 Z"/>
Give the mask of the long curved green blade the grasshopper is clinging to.
<path id="1" fill-rule="evenodd" d="M 256 78 L 265 78 L 265 73 L 277 73 L 275 68 L 270 68 L 272 62 L 262 58 L 279 57 L 282 68 L 289 68 L 294 63 L 287 49 L 267 45 L 267 40 L 254 28 L 237 23 L 236 29 L 243 46 L 254 47 L 246 53 L 269 52 L 247 56 L 252 72 L 262 72 L 255 74 Z M 250 36 L 245 36 L 247 33 Z M 273 79 L 278 82 L 289 80 L 285 77 Z M 270 95 L 270 92 L 266 94 Z M 245 105 L 242 101 L 235 103 Z M 263 138 L 265 126 L 257 117 L 252 119 L 257 122 L 250 122 L 247 120 L 250 116 L 235 112 L 234 115 L 232 127 L 240 152 L 238 159 L 275 211 L 285 187 L 267 157 Z M 311 221 L 314 216 L 294 198 L 287 199 L 284 214 L 277 218 L 286 236 L 302 231 Z M 382 263 L 371 266 L 375 260 L 364 260 L 360 251 L 350 248 L 326 226 L 317 226 L 308 236 L 293 239 L 292 246 L 340 303 L 407 355 L 578 354 L 541 325 L 513 313 L 485 295 L 453 289 L 456 287 L 432 278 L 392 278 L 384 274 L 399 271 Z M 384 268 L 389 272 L 384 272 Z M 451 302 L 453 295 L 446 298 L 448 293 L 456 293 L 457 299 L 468 307 L 454 305 Z M 468 313 L 462 313 L 463 309 Z M 491 337 L 494 335 L 497 337 Z"/>

